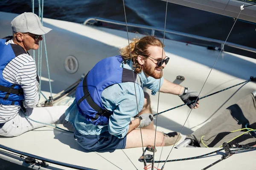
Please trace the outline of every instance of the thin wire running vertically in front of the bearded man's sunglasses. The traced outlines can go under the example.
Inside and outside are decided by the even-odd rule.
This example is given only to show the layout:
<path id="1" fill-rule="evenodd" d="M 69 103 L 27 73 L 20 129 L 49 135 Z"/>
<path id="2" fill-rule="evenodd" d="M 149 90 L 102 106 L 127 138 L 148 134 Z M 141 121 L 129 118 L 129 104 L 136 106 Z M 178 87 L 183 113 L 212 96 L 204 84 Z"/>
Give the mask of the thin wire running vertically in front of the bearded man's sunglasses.
<path id="1" fill-rule="evenodd" d="M 166 16 L 165 16 L 164 30 L 163 30 L 163 45 L 164 45 L 164 38 L 165 38 L 165 31 L 166 31 L 167 7 L 168 7 L 168 0 L 166 0 Z M 162 59 L 163 59 L 163 49 L 162 49 Z M 161 65 L 160 79 L 159 79 L 159 92 L 158 92 L 158 99 L 157 99 L 157 113 L 158 113 L 158 108 L 159 108 L 160 85 L 161 85 L 161 75 L 162 75 L 162 73 L 163 73 L 163 67 Z M 157 118 L 156 118 L 156 129 L 155 129 L 155 137 L 154 137 L 154 149 L 156 147 L 156 137 L 157 137 Z M 152 170 L 154 169 L 154 153 L 155 152 L 153 152 L 153 162 L 152 162 L 152 165 L 151 165 L 152 166 Z"/>

